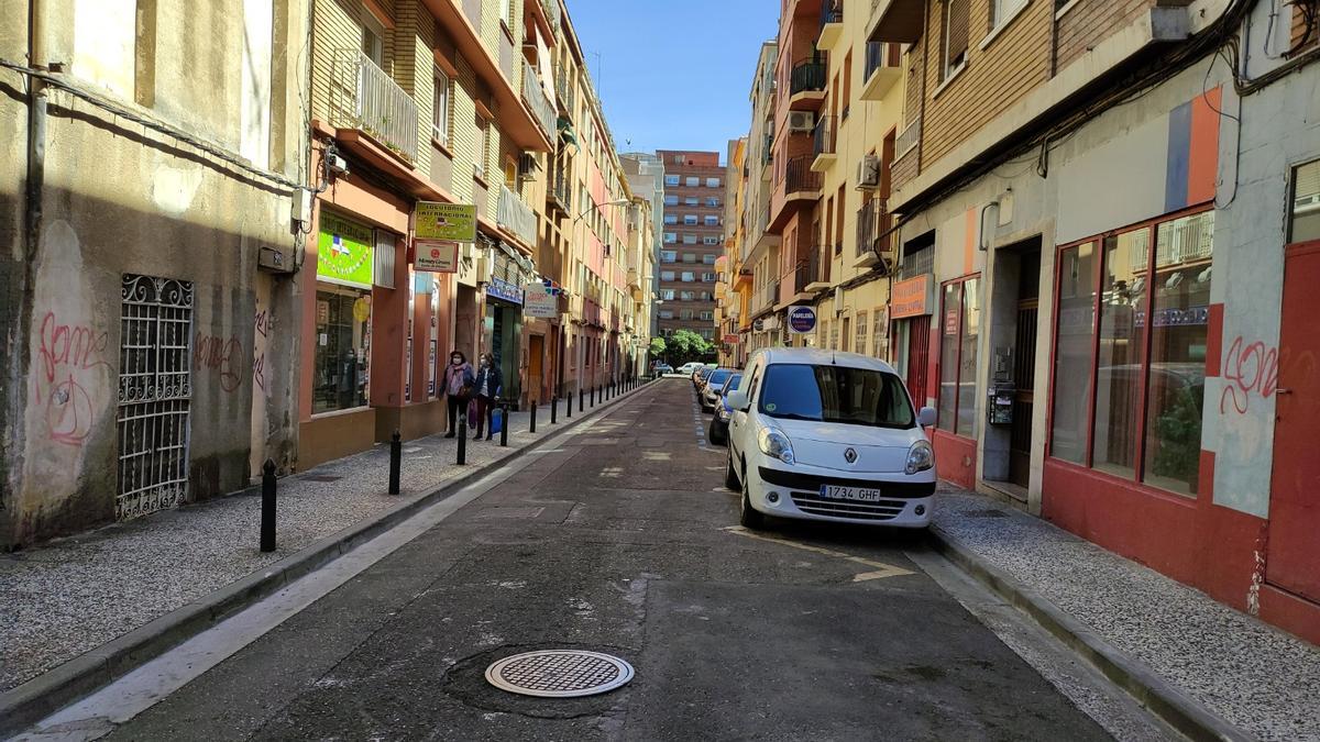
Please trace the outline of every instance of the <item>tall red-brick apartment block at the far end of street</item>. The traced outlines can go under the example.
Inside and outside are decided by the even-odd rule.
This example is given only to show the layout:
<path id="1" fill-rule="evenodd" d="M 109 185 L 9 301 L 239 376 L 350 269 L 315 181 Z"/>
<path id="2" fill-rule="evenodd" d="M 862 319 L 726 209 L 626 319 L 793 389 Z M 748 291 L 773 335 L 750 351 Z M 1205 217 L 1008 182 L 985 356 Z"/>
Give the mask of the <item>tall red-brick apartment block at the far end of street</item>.
<path id="1" fill-rule="evenodd" d="M 718 152 L 661 149 L 660 331 L 715 339 L 715 260 L 723 252 L 725 168 Z"/>

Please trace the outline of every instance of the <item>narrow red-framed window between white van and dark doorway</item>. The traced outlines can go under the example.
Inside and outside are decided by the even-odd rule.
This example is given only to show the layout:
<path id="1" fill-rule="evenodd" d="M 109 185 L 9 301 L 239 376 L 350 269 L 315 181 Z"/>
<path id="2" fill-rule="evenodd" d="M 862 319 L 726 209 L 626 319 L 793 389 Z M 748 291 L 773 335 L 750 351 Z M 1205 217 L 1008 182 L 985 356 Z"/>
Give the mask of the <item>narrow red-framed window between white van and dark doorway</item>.
<path id="1" fill-rule="evenodd" d="M 974 438 L 977 433 L 979 288 L 978 277 L 945 284 L 940 313 L 939 426 L 966 438 Z"/>

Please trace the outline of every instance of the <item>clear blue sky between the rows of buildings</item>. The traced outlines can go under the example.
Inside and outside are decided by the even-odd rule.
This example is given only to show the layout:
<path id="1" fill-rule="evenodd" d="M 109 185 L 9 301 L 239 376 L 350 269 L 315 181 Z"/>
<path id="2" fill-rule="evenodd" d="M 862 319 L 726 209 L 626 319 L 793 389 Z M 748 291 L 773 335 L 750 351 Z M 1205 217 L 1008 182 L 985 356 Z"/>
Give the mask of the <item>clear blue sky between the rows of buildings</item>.
<path id="1" fill-rule="evenodd" d="M 775 37 L 779 3 L 565 1 L 620 151 L 723 158 L 729 140 L 747 133 L 756 54 Z"/>

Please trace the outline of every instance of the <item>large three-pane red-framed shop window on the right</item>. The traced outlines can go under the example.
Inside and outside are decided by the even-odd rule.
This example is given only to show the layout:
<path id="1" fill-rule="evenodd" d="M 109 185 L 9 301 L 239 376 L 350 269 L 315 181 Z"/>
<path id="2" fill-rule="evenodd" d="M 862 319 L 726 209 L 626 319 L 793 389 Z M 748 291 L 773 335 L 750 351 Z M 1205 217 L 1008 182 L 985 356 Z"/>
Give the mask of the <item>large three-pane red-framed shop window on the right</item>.
<path id="1" fill-rule="evenodd" d="M 1213 231 L 1201 211 L 1060 250 L 1049 455 L 1196 494 Z"/>

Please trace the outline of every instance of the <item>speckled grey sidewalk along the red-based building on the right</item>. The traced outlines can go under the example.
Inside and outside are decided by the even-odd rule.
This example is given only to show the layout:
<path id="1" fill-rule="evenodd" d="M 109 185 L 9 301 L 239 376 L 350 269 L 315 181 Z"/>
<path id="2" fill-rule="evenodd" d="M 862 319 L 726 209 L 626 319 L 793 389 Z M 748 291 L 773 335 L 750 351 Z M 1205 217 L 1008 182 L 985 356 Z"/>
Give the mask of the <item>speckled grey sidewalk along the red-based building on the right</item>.
<path id="1" fill-rule="evenodd" d="M 1067 643 L 1126 660 L 1106 675 L 1147 705 L 1183 696 L 1243 737 L 1320 741 L 1320 647 L 986 496 L 941 489 L 935 524 L 954 561 L 1041 623 L 1061 618 L 1047 628 Z"/>

